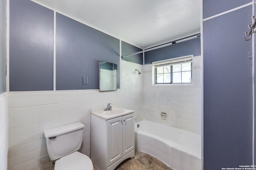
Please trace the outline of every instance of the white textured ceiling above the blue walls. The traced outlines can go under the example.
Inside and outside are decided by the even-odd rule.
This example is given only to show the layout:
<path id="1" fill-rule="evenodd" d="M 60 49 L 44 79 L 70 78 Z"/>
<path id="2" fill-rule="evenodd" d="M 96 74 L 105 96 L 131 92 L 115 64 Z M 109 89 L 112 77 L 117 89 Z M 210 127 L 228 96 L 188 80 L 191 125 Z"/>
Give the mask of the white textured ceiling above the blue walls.
<path id="1" fill-rule="evenodd" d="M 146 49 L 200 32 L 200 0 L 33 0 Z"/>

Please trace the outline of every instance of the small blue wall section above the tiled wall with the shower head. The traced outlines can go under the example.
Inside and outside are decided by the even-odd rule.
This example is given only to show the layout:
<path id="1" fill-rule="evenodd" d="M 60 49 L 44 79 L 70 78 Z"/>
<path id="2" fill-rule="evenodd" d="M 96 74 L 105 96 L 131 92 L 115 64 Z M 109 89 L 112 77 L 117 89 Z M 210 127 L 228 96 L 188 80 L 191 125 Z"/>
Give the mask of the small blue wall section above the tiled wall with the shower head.
<path id="1" fill-rule="evenodd" d="M 142 51 L 142 49 L 122 41 L 122 56 L 130 55 L 130 54 L 136 53 L 138 51 Z M 122 60 L 143 65 L 143 53 L 124 57 L 124 58 L 122 58 Z"/>

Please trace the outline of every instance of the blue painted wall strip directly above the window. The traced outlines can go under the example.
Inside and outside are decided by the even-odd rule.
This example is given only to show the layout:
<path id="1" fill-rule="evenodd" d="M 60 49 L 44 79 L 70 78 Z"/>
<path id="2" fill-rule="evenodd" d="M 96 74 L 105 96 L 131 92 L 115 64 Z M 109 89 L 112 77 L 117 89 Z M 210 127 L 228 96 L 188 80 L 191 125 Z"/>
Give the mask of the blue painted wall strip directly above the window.
<path id="1" fill-rule="evenodd" d="M 201 55 L 200 38 L 191 39 L 181 43 L 162 47 L 152 51 L 147 51 L 144 54 L 145 64 L 152 64 L 154 61 L 161 61 L 182 57 L 186 55 Z"/>

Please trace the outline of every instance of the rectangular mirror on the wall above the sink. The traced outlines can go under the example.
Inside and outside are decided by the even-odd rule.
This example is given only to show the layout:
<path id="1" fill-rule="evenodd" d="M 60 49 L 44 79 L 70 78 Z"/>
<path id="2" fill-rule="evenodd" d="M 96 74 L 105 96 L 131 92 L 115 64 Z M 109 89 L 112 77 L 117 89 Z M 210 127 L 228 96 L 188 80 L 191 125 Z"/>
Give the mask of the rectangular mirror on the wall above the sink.
<path id="1" fill-rule="evenodd" d="M 99 68 L 100 92 L 117 90 L 117 64 L 100 61 Z"/>

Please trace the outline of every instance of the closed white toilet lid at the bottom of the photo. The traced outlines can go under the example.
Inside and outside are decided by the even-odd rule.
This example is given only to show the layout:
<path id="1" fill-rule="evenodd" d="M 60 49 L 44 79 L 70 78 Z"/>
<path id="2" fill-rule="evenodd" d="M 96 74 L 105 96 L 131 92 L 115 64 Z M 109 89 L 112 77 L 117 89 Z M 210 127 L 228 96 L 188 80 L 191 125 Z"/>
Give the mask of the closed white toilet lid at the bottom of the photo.
<path id="1" fill-rule="evenodd" d="M 76 151 L 56 160 L 54 170 L 93 170 L 93 164 L 88 156 Z"/>

